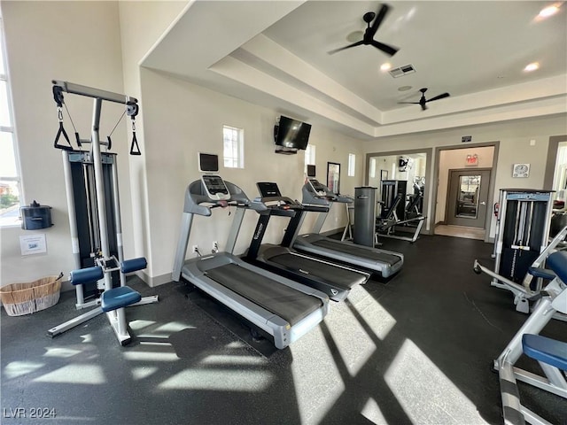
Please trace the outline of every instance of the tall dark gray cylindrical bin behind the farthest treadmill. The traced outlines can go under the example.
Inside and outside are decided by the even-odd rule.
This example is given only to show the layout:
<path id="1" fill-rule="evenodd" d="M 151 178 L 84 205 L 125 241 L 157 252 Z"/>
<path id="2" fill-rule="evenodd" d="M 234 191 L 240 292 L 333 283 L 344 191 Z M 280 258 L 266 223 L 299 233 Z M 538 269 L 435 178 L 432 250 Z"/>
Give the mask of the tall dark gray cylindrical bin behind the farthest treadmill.
<path id="1" fill-rule="evenodd" d="M 354 188 L 353 242 L 374 247 L 377 188 Z"/>

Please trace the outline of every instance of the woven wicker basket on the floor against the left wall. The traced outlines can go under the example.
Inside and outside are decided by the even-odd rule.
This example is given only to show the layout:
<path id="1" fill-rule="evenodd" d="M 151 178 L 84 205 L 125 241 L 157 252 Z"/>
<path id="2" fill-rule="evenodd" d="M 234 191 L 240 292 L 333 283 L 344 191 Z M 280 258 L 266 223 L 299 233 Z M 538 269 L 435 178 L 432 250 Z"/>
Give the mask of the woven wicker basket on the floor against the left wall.
<path id="1" fill-rule="evenodd" d="M 61 291 L 61 278 L 48 276 L 34 282 L 12 283 L 0 288 L 0 299 L 6 313 L 21 316 L 56 305 Z"/>

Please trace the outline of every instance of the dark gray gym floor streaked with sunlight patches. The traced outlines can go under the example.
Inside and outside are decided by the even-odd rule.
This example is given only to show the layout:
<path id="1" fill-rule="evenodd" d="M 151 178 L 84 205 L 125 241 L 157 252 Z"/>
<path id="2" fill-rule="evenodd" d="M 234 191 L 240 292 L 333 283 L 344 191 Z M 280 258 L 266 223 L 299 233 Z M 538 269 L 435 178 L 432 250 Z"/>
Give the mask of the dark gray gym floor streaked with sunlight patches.
<path id="1" fill-rule="evenodd" d="M 129 281 L 160 301 L 128 308 L 126 347 L 104 316 L 46 336 L 80 313 L 74 293 L 32 315 L 3 309 L 2 423 L 501 423 L 492 360 L 526 316 L 472 272 L 474 259 L 492 264 L 493 245 L 422 236 L 384 248 L 405 254 L 400 274 L 355 288 L 281 351 L 183 283 Z M 566 329 L 552 321 L 542 334 L 567 340 Z M 521 366 L 538 371 L 530 359 Z M 567 424 L 564 399 L 520 390 L 525 405 Z"/>

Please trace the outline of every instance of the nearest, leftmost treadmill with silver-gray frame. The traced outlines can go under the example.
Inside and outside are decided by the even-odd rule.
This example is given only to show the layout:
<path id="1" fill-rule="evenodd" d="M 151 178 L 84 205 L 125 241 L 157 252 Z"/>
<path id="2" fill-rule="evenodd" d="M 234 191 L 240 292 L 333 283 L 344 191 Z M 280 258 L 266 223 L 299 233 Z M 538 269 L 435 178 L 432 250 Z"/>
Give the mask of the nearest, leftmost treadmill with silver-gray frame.
<path id="1" fill-rule="evenodd" d="M 237 206 L 227 240 L 228 252 L 185 259 L 193 217 L 211 216 L 215 207 Z M 283 349 L 314 328 L 329 313 L 329 298 L 322 292 L 271 274 L 231 254 L 245 210 L 261 208 L 235 184 L 206 174 L 185 192 L 182 228 L 172 278 L 183 277 L 245 321 L 260 328 Z"/>

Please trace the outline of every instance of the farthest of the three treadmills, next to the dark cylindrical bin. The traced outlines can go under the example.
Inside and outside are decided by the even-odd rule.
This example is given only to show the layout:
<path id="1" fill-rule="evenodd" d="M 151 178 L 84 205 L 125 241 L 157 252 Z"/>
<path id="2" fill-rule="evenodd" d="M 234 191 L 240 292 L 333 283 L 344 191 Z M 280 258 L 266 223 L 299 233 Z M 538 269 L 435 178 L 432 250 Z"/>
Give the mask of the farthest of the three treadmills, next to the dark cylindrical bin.
<path id="1" fill-rule="evenodd" d="M 320 205 L 326 206 L 327 209 L 319 214 L 312 233 L 298 236 L 297 233 L 302 224 L 299 223 L 296 234 L 292 236 L 293 248 L 326 259 L 334 259 L 343 264 L 361 267 L 371 273 L 380 274 L 383 278 L 388 278 L 400 271 L 404 264 L 404 256 L 399 252 L 338 241 L 320 234 L 322 225 L 329 213 L 330 205 L 333 202 L 350 204 L 353 202 L 353 198 L 338 196 L 330 191 L 327 186 L 313 178 L 307 179 L 302 193 L 302 204 L 304 206 Z"/>

